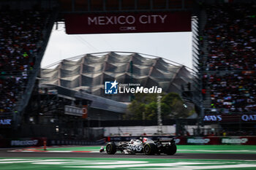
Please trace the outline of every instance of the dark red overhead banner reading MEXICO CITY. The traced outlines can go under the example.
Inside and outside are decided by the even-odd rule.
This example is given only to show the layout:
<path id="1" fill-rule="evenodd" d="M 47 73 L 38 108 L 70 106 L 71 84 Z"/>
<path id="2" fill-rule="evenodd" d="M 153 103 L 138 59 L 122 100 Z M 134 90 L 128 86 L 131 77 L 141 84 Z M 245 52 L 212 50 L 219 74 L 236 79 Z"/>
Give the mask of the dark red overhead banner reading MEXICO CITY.
<path id="1" fill-rule="evenodd" d="M 139 12 L 65 15 L 67 34 L 191 31 L 190 12 Z"/>

